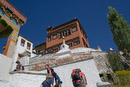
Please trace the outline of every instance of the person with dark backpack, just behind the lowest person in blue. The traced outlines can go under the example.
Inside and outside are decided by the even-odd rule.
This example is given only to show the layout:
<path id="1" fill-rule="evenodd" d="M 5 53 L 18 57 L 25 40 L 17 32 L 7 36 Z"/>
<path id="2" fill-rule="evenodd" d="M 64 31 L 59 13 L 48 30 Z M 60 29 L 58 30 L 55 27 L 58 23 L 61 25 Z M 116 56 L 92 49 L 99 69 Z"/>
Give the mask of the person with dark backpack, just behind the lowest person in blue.
<path id="1" fill-rule="evenodd" d="M 46 64 L 45 67 L 47 69 L 48 76 L 53 76 L 55 78 L 55 87 L 61 87 L 62 81 L 60 80 L 60 77 L 57 75 L 54 69 L 50 68 L 48 64 Z"/>

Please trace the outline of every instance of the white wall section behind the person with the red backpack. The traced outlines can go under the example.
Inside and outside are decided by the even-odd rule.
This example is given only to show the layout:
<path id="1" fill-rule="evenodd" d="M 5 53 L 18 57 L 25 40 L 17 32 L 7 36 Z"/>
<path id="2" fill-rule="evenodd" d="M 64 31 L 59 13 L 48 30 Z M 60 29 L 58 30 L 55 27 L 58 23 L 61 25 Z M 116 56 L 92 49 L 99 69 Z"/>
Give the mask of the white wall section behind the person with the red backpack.
<path id="1" fill-rule="evenodd" d="M 73 87 L 71 73 L 75 68 L 80 68 L 85 74 L 88 83 L 87 87 L 97 87 L 96 83 L 101 82 L 94 60 L 89 59 L 53 68 L 63 82 L 62 87 Z M 42 72 L 46 72 L 46 70 L 43 70 Z"/>

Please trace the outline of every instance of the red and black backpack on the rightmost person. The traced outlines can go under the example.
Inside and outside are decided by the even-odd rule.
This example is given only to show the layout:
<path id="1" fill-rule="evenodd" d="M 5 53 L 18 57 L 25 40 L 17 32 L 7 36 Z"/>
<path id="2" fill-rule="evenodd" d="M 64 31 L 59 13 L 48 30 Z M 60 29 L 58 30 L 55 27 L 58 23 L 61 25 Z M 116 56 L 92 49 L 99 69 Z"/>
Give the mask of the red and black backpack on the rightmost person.
<path id="1" fill-rule="evenodd" d="M 73 81 L 73 82 L 75 82 L 75 81 L 77 81 L 77 80 L 81 80 L 80 72 L 81 72 L 80 69 L 73 69 L 73 72 L 72 72 L 72 74 L 71 74 L 71 77 L 72 77 L 72 81 Z"/>

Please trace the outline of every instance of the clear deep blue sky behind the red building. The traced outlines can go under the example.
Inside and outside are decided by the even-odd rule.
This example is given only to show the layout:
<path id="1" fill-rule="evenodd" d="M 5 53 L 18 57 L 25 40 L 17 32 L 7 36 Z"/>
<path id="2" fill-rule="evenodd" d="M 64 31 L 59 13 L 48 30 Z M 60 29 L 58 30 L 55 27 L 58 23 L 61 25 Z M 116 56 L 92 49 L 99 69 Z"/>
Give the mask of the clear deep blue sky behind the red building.
<path id="1" fill-rule="evenodd" d="M 117 46 L 107 21 L 108 6 L 116 8 L 130 24 L 130 0 L 9 0 L 26 17 L 20 34 L 33 41 L 34 46 L 46 41 L 48 26 L 58 26 L 78 18 L 88 36 L 89 45 L 103 51 Z M 7 38 L 0 39 L 0 52 Z"/>

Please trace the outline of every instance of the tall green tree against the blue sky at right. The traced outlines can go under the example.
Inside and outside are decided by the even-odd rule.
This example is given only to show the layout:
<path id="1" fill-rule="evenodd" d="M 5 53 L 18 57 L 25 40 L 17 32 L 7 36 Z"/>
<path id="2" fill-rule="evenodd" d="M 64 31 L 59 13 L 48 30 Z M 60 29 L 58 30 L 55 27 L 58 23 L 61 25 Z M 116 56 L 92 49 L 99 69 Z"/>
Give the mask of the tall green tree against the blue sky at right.
<path id="1" fill-rule="evenodd" d="M 118 50 L 130 53 L 130 26 L 115 8 L 108 7 L 108 22 L 111 28 L 113 39 Z"/>

